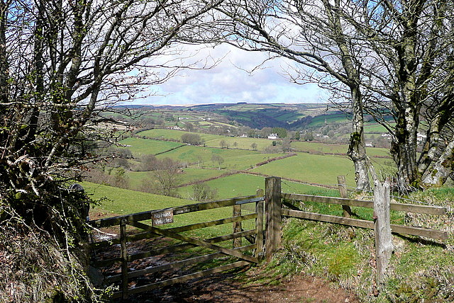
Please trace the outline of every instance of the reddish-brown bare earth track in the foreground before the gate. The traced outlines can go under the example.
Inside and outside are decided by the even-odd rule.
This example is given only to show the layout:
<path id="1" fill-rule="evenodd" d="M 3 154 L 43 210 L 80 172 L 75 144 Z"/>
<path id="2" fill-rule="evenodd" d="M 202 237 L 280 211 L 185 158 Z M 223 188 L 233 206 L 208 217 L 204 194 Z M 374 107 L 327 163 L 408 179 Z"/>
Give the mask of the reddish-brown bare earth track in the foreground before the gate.
<path id="1" fill-rule="evenodd" d="M 314 302 L 358 303 L 354 295 L 319 278 L 298 275 L 280 285 L 243 285 L 234 274 L 215 275 L 131 298 L 130 302 Z"/>

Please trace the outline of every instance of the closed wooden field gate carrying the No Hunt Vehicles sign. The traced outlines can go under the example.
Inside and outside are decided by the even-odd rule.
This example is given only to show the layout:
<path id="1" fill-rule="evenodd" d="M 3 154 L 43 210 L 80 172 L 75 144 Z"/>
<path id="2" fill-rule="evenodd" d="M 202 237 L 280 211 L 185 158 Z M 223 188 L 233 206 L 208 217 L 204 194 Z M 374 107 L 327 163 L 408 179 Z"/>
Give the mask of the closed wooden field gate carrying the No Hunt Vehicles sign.
<path id="1" fill-rule="evenodd" d="M 245 205 L 249 207 L 244 207 Z M 179 220 L 179 215 L 220 209 L 221 207 L 223 207 L 223 210 L 226 207 L 232 207 L 233 212 L 225 210 L 223 214 L 222 211 L 221 214 L 218 214 L 232 214 L 231 217 L 227 215 L 221 219 L 192 224 L 184 224 L 183 219 Z M 200 202 L 165 210 L 151 210 L 132 215 L 93 220 L 89 223 L 98 231 L 99 229 L 106 230 L 105 228 L 114 229 L 116 227 L 114 231 L 110 230 L 110 233 L 116 234 L 116 236 L 104 241 L 93 241 L 91 245 L 95 258 L 92 264 L 105 273 L 105 285 L 118 285 L 119 290 L 114 292 L 113 298 L 126 299 L 128 295 L 146 292 L 157 287 L 181 283 L 250 263 L 257 263 L 263 250 L 263 210 L 264 197 L 263 193 L 259 192 L 257 195 L 248 197 Z M 185 219 L 190 218 L 186 215 Z M 249 224 L 252 228 L 243 229 L 242 222 L 252 222 L 252 224 Z M 216 234 L 216 236 L 208 239 L 195 234 L 196 229 L 219 227 L 229 223 L 233 224 L 233 231 L 229 234 Z M 109 229 L 107 229 L 108 232 Z M 184 234 L 185 232 L 191 234 Z M 249 243 L 242 246 L 242 238 Z M 134 244 L 137 244 L 138 241 L 142 242 L 135 246 Z M 143 241 L 153 242 L 147 242 L 144 245 L 145 242 Z M 196 248 L 196 251 L 188 253 L 190 248 Z M 188 254 L 189 256 L 187 256 Z M 172 261 L 160 261 L 159 264 L 145 268 L 137 266 L 139 260 L 141 263 L 145 262 L 149 265 L 150 259 L 165 255 L 171 256 Z M 183 257 L 180 256 L 175 261 L 177 255 L 183 255 Z M 228 260 L 226 260 L 226 256 L 229 257 Z M 221 265 L 218 265 L 219 263 Z M 182 270 L 182 268 L 187 267 L 197 268 L 197 265 L 201 264 L 203 268 L 209 268 L 202 268 L 202 270 L 199 268 L 196 272 L 191 273 L 184 270 L 177 276 L 174 272 L 169 278 L 159 281 L 152 281 L 153 279 L 149 278 L 156 273 Z M 165 277 L 165 275 L 160 275 L 160 279 L 162 277 Z M 141 284 L 137 282 L 140 278 Z M 147 282 L 144 283 L 143 280 Z"/>

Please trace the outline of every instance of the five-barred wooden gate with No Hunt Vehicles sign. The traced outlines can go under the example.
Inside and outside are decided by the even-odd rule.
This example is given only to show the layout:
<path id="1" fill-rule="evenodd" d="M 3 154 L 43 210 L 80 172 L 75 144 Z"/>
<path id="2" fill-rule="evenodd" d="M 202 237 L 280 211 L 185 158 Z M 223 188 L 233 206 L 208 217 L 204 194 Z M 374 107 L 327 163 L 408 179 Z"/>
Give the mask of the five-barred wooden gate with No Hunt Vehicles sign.
<path id="1" fill-rule="evenodd" d="M 118 217 L 110 217 L 106 219 L 98 219 L 89 222 L 93 227 L 99 229 L 103 227 L 119 226 L 119 237 L 105 241 L 96 241 L 92 243 L 92 248 L 96 251 L 99 248 L 120 246 L 119 254 L 114 258 L 107 258 L 100 260 L 99 257 L 94 261 L 96 268 L 105 268 L 116 263 L 120 263 L 120 273 L 109 275 L 104 279 L 104 284 L 111 285 L 112 283 L 120 282 L 120 291 L 114 292 L 113 298 L 126 299 L 128 295 L 137 294 L 153 290 L 157 287 L 164 287 L 175 283 L 181 283 L 194 278 L 201 278 L 207 275 L 238 268 L 240 266 L 248 265 L 250 263 L 257 263 L 260 256 L 262 256 L 263 247 L 263 218 L 264 218 L 264 197 L 263 193 L 252 195 L 242 198 L 233 198 L 228 200 L 219 200 L 214 202 L 200 202 L 192 205 L 184 205 L 180 207 L 167 208 L 165 210 L 151 210 L 148 212 L 140 212 L 132 215 L 124 215 Z M 246 215 L 241 214 L 241 205 L 248 203 L 255 204 L 255 212 Z M 188 224 L 179 227 L 162 228 L 157 227 L 167 223 L 177 223 L 178 215 L 187 214 L 189 212 L 199 212 L 201 210 L 214 210 L 219 207 L 233 207 L 233 216 L 223 219 L 217 219 L 209 222 L 199 222 Z M 174 220 L 175 217 L 175 220 Z M 255 227 L 249 230 L 243 230 L 241 222 L 245 220 L 255 220 Z M 147 224 L 148 223 L 148 224 Z M 187 236 L 182 234 L 184 231 L 194 231 L 205 227 L 216 227 L 221 224 L 233 224 L 233 232 L 231 234 L 219 235 L 210 239 L 197 239 L 196 237 Z M 127 229 L 127 226 L 135 227 L 135 231 Z M 141 232 L 137 233 L 137 229 Z M 134 231 L 134 234 L 131 234 Z M 165 237 L 166 239 L 178 240 L 179 243 L 172 243 L 170 246 L 162 246 L 157 243 L 152 246 L 149 251 L 141 251 L 140 253 L 130 253 L 131 249 L 128 246 L 134 241 L 143 239 L 152 239 Z M 241 238 L 247 239 L 250 244 L 241 246 Z M 233 241 L 233 248 L 226 247 L 226 244 L 217 245 L 225 241 Z M 211 253 L 206 253 L 201 256 L 191 256 L 178 261 L 172 261 L 163 265 L 143 268 L 140 270 L 132 270 L 131 262 L 140 259 L 150 258 L 153 256 L 162 255 L 165 253 L 172 254 L 172 257 L 177 252 L 187 251 L 189 248 L 201 247 L 208 248 Z M 252 253 L 246 253 L 252 251 Z M 130 282 L 136 278 L 143 278 L 145 275 L 152 273 L 164 272 L 165 270 L 174 270 L 183 268 L 188 265 L 197 263 L 204 263 L 214 261 L 223 256 L 231 256 L 235 261 L 231 263 L 223 262 L 223 265 L 218 265 L 214 268 L 200 270 L 196 273 L 184 273 L 177 277 L 172 277 L 167 280 L 160 280 L 158 282 L 149 283 L 147 285 L 135 285 L 129 287 Z"/>

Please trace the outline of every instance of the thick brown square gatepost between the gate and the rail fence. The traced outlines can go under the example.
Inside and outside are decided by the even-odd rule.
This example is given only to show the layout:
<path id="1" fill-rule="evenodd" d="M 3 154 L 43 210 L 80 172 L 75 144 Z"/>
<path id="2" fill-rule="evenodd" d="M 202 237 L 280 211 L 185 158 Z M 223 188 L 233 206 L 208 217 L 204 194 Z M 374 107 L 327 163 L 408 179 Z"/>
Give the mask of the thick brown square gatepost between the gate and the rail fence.
<path id="1" fill-rule="evenodd" d="M 281 242 L 281 178 L 265 178 L 265 212 L 267 224 L 265 227 L 265 253 L 267 262 Z"/>

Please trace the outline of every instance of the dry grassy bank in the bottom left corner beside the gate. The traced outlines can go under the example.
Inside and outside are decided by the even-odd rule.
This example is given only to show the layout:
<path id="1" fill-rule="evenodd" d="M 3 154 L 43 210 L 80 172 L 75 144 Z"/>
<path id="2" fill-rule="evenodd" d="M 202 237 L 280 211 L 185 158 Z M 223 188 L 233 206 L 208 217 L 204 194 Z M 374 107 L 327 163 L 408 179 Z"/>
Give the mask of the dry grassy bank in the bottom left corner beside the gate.
<path id="1" fill-rule="evenodd" d="M 2 213 L 5 205 L 0 205 Z M 20 217 L 0 224 L 0 302 L 97 302 L 82 247 L 62 248 Z"/>

